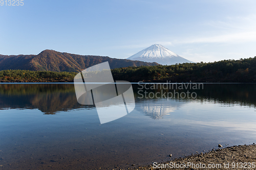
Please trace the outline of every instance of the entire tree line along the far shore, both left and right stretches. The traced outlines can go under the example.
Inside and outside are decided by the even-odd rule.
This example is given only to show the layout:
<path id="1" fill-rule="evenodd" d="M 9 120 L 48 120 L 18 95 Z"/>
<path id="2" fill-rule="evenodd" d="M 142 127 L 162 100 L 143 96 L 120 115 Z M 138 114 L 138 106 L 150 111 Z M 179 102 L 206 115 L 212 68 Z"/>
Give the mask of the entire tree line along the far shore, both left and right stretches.
<path id="1" fill-rule="evenodd" d="M 122 67 L 111 70 L 114 80 L 129 82 L 256 83 L 256 57 L 218 62 Z M 77 72 L 1 70 L 0 82 L 73 82 Z"/>

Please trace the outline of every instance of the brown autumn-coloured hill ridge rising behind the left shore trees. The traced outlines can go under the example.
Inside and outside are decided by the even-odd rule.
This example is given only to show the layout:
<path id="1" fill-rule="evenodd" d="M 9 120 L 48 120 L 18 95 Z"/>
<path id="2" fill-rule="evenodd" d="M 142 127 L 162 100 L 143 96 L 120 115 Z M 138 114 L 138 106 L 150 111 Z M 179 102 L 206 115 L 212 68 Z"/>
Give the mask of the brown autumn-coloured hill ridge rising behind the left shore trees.
<path id="1" fill-rule="evenodd" d="M 60 53 L 54 50 L 45 50 L 38 55 L 0 55 L 0 70 L 23 69 L 33 71 L 74 71 L 78 72 L 90 66 L 108 61 L 110 68 L 128 66 L 153 66 L 158 63 L 115 59 L 103 56 L 81 56 L 69 53 Z"/>

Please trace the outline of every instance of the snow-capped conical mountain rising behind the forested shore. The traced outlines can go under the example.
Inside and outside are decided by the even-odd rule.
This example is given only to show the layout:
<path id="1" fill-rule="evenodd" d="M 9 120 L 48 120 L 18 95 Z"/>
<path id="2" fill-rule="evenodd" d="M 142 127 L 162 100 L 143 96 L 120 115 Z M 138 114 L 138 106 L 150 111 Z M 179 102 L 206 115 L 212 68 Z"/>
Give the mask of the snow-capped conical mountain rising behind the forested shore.
<path id="1" fill-rule="evenodd" d="M 178 56 L 174 52 L 169 51 L 163 45 L 154 44 L 144 50 L 128 57 L 129 60 L 139 60 L 145 62 L 157 62 L 162 65 L 172 65 L 176 63 L 193 63 L 183 57 Z"/>

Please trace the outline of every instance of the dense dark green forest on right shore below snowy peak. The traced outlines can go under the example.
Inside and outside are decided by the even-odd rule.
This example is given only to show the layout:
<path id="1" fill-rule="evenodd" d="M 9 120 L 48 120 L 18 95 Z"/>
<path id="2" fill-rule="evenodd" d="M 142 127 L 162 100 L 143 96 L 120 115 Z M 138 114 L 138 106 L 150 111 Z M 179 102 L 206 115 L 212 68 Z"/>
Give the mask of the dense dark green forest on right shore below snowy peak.
<path id="1" fill-rule="evenodd" d="M 256 57 L 212 63 L 115 68 L 115 80 L 130 82 L 256 82 Z"/>

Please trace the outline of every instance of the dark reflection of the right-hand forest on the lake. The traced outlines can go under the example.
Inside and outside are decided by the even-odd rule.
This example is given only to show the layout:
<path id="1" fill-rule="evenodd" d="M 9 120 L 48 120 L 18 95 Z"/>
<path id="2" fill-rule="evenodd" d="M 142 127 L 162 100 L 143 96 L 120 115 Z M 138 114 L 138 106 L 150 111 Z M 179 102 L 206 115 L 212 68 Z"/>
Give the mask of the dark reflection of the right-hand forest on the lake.
<path id="1" fill-rule="evenodd" d="M 156 83 L 157 84 L 157 83 Z M 178 83 L 179 84 L 179 83 Z M 153 86 L 153 84 L 152 84 Z M 147 85 L 147 88 L 151 87 L 150 85 Z M 147 91 L 148 93 L 153 92 L 155 93 L 154 96 L 156 96 L 157 92 L 161 92 L 161 89 L 163 88 L 163 85 L 160 88 L 160 85 L 158 84 L 158 87 L 156 89 L 143 89 L 144 91 Z M 133 85 L 133 89 L 135 92 L 135 97 L 140 97 L 141 95 L 138 94 L 138 90 L 141 89 L 141 85 L 138 86 L 137 84 Z M 173 92 L 174 89 L 166 89 L 163 90 L 163 92 Z M 242 106 L 253 106 L 256 107 L 256 84 L 247 84 L 247 83 L 217 83 L 217 84 L 203 84 L 203 89 L 184 89 L 179 90 L 175 89 L 176 92 L 187 92 L 187 90 L 192 93 L 197 93 L 197 98 L 193 99 L 194 102 L 217 102 L 217 103 L 225 103 L 225 104 L 239 104 Z M 148 94 L 147 93 L 147 94 Z M 154 98 L 155 100 L 158 100 L 157 98 Z M 192 99 L 183 99 L 183 101 L 190 101 Z"/>

